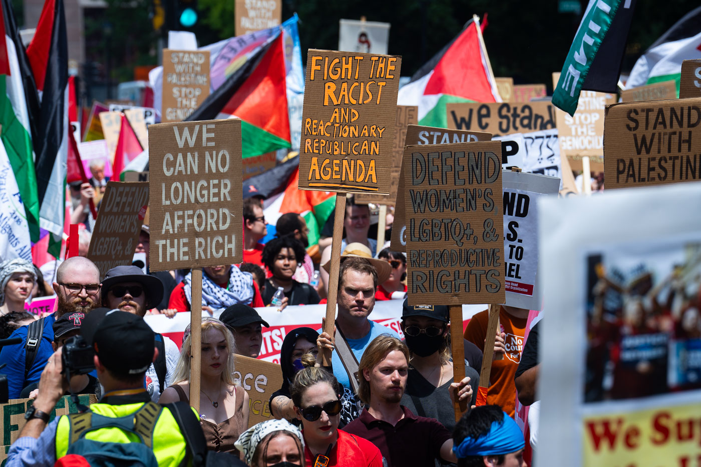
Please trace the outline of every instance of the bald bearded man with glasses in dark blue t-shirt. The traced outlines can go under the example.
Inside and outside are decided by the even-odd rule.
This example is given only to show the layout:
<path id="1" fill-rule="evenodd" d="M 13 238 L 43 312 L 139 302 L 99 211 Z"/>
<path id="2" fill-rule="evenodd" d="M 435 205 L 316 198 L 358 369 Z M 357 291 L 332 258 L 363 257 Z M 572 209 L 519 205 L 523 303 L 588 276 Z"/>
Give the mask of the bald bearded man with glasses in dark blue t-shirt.
<path id="1" fill-rule="evenodd" d="M 27 332 L 29 326 L 22 326 L 13 332 L 11 338 L 20 337 L 21 344 L 4 346 L 0 351 L 2 372 L 7 374 L 8 393 L 11 399 L 20 397 L 22 389 L 38 383 L 48 358 L 53 355 L 53 323 L 67 313 L 88 313 L 100 304 L 100 270 L 90 259 L 74 256 L 58 266 L 53 290 L 57 295 L 57 308 L 43 320 L 43 333 L 36 343 L 36 356 L 29 371 L 27 361 Z"/>

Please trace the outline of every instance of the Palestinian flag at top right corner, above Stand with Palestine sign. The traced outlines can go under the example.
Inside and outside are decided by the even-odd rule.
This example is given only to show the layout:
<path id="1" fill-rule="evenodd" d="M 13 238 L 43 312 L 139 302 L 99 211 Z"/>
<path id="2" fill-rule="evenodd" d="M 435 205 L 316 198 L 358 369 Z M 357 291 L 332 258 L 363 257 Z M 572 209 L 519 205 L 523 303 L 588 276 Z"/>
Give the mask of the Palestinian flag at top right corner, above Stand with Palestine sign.
<path id="1" fill-rule="evenodd" d="M 626 89 L 676 81 L 679 95 L 681 62 L 701 58 L 701 6 L 687 13 L 635 62 Z"/>

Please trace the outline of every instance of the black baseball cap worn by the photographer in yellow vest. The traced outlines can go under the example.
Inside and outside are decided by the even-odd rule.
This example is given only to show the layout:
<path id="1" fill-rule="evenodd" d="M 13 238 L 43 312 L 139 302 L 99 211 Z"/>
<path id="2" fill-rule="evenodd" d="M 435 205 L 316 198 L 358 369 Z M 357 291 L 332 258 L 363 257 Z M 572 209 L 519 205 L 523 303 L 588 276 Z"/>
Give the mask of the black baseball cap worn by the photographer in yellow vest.
<path id="1" fill-rule="evenodd" d="M 83 319 L 81 335 L 102 365 L 120 374 L 143 373 L 154 360 L 156 334 L 133 313 L 96 308 Z"/>

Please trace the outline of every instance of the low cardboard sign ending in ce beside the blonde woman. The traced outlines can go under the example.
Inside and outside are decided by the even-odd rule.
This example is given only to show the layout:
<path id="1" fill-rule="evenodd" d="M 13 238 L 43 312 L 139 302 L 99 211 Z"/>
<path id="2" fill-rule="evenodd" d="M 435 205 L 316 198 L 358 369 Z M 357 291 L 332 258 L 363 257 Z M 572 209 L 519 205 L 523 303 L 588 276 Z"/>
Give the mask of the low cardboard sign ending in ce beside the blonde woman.
<path id="1" fill-rule="evenodd" d="M 248 427 L 274 419 L 270 411 L 270 397 L 283 387 L 280 365 L 236 354 L 234 367 L 233 380 L 248 393 Z"/>

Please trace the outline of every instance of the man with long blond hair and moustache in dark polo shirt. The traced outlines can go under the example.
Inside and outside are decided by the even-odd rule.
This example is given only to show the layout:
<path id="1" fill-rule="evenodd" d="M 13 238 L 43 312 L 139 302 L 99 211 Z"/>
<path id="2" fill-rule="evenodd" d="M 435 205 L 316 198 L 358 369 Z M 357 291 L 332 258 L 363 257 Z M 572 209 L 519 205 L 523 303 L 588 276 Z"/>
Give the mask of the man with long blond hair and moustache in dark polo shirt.
<path id="1" fill-rule="evenodd" d="M 409 349 L 383 334 L 367 347 L 360 360 L 360 400 L 368 405 L 360 417 L 343 428 L 379 447 L 390 467 L 433 466 L 435 459 L 456 462 L 453 440 L 435 419 L 416 417 L 400 405 L 407 387 Z M 451 384 L 451 400 L 472 398 L 469 379 Z"/>

